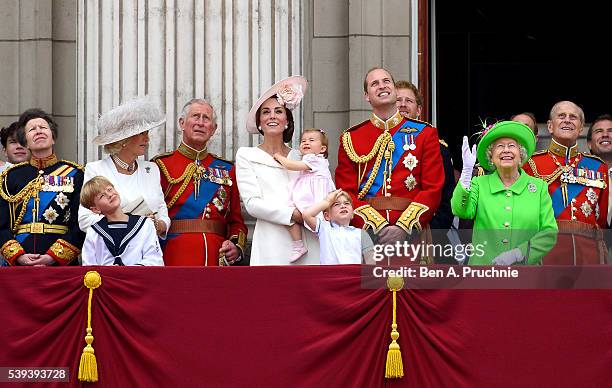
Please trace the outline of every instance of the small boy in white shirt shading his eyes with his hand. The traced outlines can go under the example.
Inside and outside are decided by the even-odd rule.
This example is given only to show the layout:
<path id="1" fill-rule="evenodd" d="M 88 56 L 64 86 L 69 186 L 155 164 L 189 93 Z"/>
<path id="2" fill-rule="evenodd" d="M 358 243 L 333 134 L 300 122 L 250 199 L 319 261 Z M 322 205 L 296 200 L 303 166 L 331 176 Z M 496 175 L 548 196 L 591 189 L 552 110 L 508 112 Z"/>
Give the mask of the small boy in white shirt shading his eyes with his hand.
<path id="1" fill-rule="evenodd" d="M 323 212 L 323 219 L 317 215 Z M 319 236 L 321 264 L 373 264 L 374 245 L 363 229 L 350 226 L 353 201 L 342 190 L 302 212 L 304 224 Z"/>

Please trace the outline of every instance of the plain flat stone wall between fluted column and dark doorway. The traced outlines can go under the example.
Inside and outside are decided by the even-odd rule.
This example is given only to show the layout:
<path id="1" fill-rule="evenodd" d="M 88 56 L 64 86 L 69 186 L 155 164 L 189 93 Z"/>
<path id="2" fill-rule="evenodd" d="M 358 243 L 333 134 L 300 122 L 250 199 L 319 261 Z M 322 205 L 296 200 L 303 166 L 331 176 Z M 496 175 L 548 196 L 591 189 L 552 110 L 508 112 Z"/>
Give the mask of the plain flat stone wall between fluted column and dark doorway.
<path id="1" fill-rule="evenodd" d="M 305 125 L 326 128 L 335 168 L 342 131 L 369 117 L 363 97 L 368 69 L 383 66 L 396 79 L 414 80 L 409 0 L 312 0 L 304 66 L 312 85 Z M 414 8 L 416 12 L 416 7 Z"/>

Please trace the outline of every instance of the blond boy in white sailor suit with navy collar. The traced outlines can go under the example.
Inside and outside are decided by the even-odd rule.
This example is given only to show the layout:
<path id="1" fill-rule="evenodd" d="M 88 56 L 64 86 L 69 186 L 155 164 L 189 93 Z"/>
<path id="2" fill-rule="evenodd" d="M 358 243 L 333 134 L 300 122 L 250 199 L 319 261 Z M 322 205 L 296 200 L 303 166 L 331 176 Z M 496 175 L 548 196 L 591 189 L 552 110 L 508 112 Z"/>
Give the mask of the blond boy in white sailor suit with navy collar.
<path id="1" fill-rule="evenodd" d="M 96 176 L 85 182 L 81 205 L 104 215 L 87 230 L 83 265 L 164 265 L 153 221 L 123 213 L 121 197 L 108 179 Z"/>

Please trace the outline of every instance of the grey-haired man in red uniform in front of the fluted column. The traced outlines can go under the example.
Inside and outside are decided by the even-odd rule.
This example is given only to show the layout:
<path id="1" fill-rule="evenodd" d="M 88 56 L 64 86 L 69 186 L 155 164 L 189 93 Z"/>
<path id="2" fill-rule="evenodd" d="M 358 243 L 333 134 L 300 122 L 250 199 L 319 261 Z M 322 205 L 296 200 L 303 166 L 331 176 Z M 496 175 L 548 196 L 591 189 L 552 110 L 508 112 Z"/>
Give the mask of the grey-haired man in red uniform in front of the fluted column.
<path id="1" fill-rule="evenodd" d="M 243 257 L 247 228 L 232 162 L 208 153 L 217 129 L 212 106 L 193 99 L 178 124 L 183 141 L 177 150 L 153 161 L 172 220 L 164 245 L 166 265 L 233 265 Z"/>

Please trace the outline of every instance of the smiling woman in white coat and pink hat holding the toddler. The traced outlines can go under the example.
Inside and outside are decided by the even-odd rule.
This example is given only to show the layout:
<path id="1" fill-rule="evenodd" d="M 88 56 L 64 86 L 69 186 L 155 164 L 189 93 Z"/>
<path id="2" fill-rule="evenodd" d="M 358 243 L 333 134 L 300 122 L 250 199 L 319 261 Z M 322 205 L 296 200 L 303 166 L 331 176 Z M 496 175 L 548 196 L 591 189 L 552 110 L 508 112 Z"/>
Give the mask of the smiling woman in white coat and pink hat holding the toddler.
<path id="1" fill-rule="evenodd" d="M 300 153 L 287 146 L 294 131 L 292 110 L 300 103 L 308 83 L 292 76 L 268 89 L 251 107 L 247 131 L 263 135 L 257 147 L 241 147 L 236 153 L 236 180 L 247 212 L 257 219 L 251 247 L 251 265 L 319 264 L 316 236 L 302 230 L 308 253 L 290 263 L 293 241 L 287 225 L 302 223 L 302 214 L 289 203 L 289 182 L 298 172 L 274 160 L 279 153 L 300 160 Z"/>

